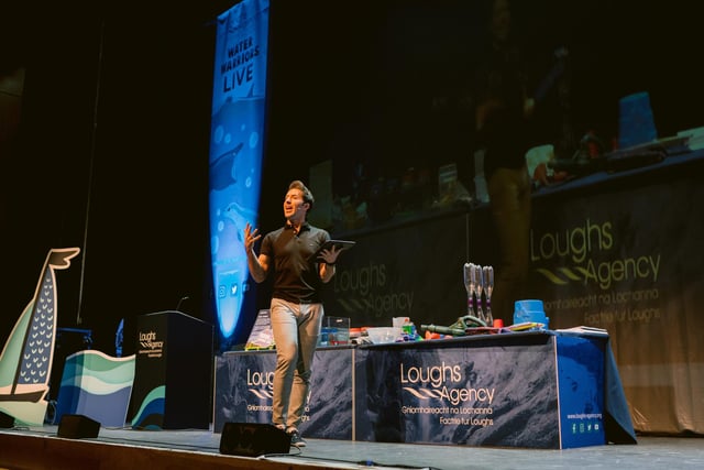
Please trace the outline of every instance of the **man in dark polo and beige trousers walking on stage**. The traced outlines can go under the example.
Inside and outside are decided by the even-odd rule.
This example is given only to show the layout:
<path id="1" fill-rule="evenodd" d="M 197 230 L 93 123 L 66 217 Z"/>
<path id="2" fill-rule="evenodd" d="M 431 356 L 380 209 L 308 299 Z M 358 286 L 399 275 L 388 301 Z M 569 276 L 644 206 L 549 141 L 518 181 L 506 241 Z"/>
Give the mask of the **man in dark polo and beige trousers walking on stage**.
<path id="1" fill-rule="evenodd" d="M 332 247 L 316 253 L 330 234 L 306 220 L 314 196 L 300 182 L 288 186 L 284 198 L 284 227 L 262 239 L 258 256 L 254 243 L 262 238 L 258 229 L 244 227 L 248 265 L 255 282 L 274 275 L 271 318 L 276 343 L 272 422 L 289 434 L 292 445 L 305 447 L 298 426 L 306 409 L 310 387 L 314 352 L 322 325 L 322 285 L 334 275 L 340 254 Z"/>

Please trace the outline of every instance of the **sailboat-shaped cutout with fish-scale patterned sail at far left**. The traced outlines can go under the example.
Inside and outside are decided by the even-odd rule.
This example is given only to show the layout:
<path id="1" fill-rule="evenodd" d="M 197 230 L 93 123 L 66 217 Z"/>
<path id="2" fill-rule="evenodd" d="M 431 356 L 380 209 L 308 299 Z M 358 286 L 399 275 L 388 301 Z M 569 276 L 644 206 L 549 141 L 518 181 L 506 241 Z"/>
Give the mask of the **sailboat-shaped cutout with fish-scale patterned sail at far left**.
<path id="1" fill-rule="evenodd" d="M 58 318 L 55 270 L 70 266 L 80 249 L 52 249 L 34 296 L 18 319 L 0 356 L 0 411 L 24 425 L 44 424 Z"/>

